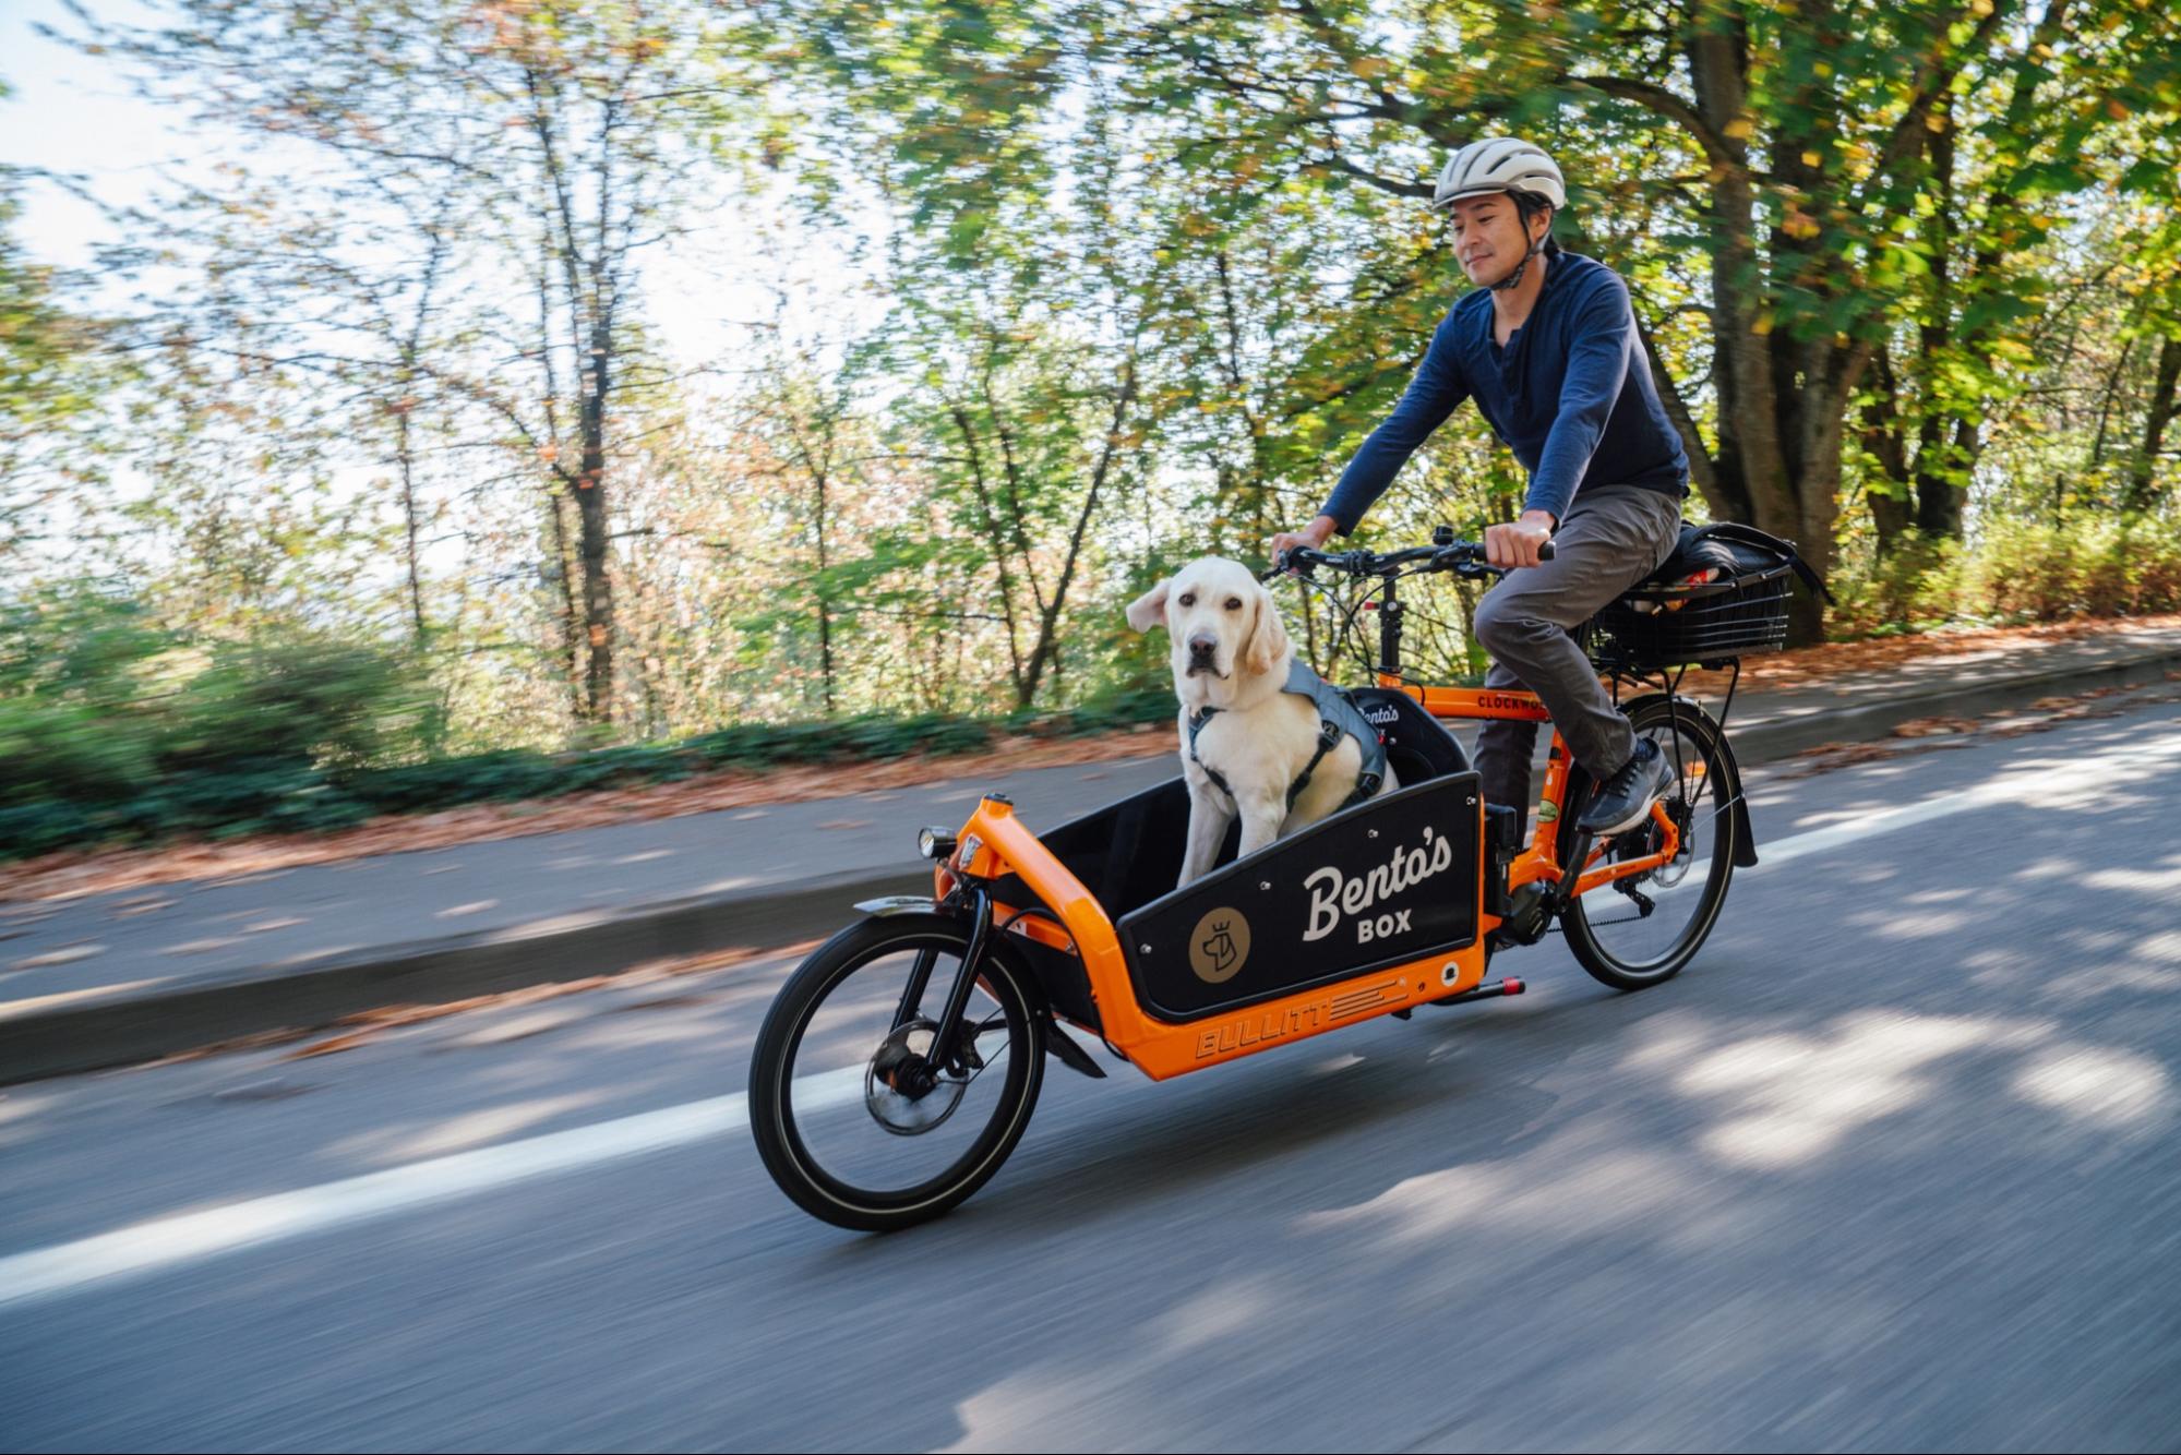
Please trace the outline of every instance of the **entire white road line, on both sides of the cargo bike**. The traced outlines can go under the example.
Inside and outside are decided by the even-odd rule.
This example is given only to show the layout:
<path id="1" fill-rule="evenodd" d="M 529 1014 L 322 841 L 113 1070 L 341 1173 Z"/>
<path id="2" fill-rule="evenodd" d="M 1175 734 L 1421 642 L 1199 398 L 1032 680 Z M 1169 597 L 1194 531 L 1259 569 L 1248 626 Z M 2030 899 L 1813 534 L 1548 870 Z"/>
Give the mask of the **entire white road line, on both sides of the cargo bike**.
<path id="1" fill-rule="evenodd" d="M 2129 774 L 2140 781 L 2144 766 L 2161 766 L 2181 757 L 2181 733 L 2148 737 L 2126 748 L 2050 768 L 2013 772 L 1991 783 L 1978 783 L 1959 794 L 1928 798 L 1897 809 L 1865 814 L 1847 822 L 1795 833 L 1775 842 L 1758 842 L 1758 870 L 1825 853 L 1911 825 L 1967 814 L 1996 803 L 2039 803 L 2061 794 L 2096 790 Z M 2135 772 L 2131 772 L 2131 768 Z M 844 1106 L 864 1095 L 864 1069 L 844 1067 L 796 1082 L 796 1104 L 803 1110 Z M 731 1132 L 748 1121 L 744 1095 L 709 1097 L 654 1113 L 600 1121 L 598 1126 L 547 1132 L 497 1147 L 436 1156 L 410 1167 L 393 1167 L 360 1178 L 305 1187 L 292 1193 L 253 1198 L 225 1209 L 155 1217 L 150 1222 L 103 1232 L 98 1237 L 39 1248 L 0 1259 L 0 1309 L 72 1294 L 94 1283 L 146 1276 L 185 1263 L 260 1248 L 288 1237 L 305 1237 L 386 1213 L 467 1198 L 493 1187 L 508 1187 L 576 1167 L 680 1147 L 704 1137 Z"/>

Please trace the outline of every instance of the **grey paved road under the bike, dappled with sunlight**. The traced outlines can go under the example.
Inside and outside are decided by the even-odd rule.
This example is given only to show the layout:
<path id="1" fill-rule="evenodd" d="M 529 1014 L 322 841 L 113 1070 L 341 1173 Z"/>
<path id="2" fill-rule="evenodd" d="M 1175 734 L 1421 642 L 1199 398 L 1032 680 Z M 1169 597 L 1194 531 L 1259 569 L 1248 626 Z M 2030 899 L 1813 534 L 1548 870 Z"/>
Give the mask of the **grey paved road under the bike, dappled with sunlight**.
<path id="1" fill-rule="evenodd" d="M 2172 1448 L 2177 770 L 2155 705 L 1754 774 L 1668 986 L 1549 940 L 1516 1001 L 1053 1069 L 892 1239 L 733 1126 L 781 960 L 17 1086 L 0 1444 Z"/>

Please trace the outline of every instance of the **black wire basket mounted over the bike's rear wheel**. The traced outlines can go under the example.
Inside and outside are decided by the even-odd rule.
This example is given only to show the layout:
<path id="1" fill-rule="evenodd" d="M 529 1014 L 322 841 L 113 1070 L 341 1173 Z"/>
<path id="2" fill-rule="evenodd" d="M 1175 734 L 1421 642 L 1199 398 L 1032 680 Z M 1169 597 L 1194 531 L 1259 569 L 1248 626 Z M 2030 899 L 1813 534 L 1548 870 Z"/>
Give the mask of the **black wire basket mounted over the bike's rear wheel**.
<path id="1" fill-rule="evenodd" d="M 1583 650 L 1607 672 L 1723 668 L 1786 646 L 1793 563 L 1701 585 L 1644 582 L 1583 626 Z M 1649 606 L 1649 609 L 1647 609 Z"/>

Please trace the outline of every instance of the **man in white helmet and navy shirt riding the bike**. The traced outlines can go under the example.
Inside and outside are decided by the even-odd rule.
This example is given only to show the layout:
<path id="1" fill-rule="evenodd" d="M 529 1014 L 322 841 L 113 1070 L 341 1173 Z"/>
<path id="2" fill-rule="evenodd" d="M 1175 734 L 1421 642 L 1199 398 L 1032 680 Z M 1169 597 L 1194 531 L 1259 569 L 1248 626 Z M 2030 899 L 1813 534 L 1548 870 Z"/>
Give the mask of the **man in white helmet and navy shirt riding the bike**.
<path id="1" fill-rule="evenodd" d="M 1568 628 L 1649 576 L 1673 550 L 1688 495 L 1688 456 L 1666 421 L 1636 336 L 1627 286 L 1603 264 L 1562 253 L 1553 214 L 1566 207 L 1559 168 L 1514 137 L 1470 142 L 1439 172 L 1431 205 L 1474 292 L 1431 336 L 1394 414 L 1341 473 L 1324 510 L 1272 539 L 1324 550 L 1348 534 L 1394 473 L 1463 399 L 1529 469 L 1522 515 L 1485 530 L 1492 565 L 1522 567 L 1485 591 L 1477 639 L 1492 654 L 1487 687 L 1544 698 L 1568 750 L 1596 781 L 1577 820 L 1623 833 L 1671 779 L 1658 744 L 1629 731 Z M 1553 558 L 1538 548 L 1553 541 Z M 1485 722 L 1477 770 L 1485 801 L 1529 811 L 1538 729 Z"/>

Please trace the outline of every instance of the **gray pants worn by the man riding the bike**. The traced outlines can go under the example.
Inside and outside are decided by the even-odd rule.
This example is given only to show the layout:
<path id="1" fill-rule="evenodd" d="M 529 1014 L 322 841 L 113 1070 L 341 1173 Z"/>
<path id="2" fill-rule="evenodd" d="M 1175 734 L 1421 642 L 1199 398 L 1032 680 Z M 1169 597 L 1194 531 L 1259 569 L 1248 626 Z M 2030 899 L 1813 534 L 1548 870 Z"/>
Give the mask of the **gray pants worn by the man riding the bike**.
<path id="1" fill-rule="evenodd" d="M 1592 779 L 1627 763 L 1636 735 L 1568 630 L 1655 572 L 1679 530 L 1682 502 L 1673 495 L 1638 484 L 1592 486 L 1553 532 L 1553 558 L 1509 572 L 1477 604 L 1477 639 L 1492 652 L 1485 687 L 1529 687 L 1544 698 L 1553 726 Z M 1477 731 L 1485 803 L 1505 803 L 1527 820 L 1535 750 L 1535 722 L 1485 722 Z"/>

